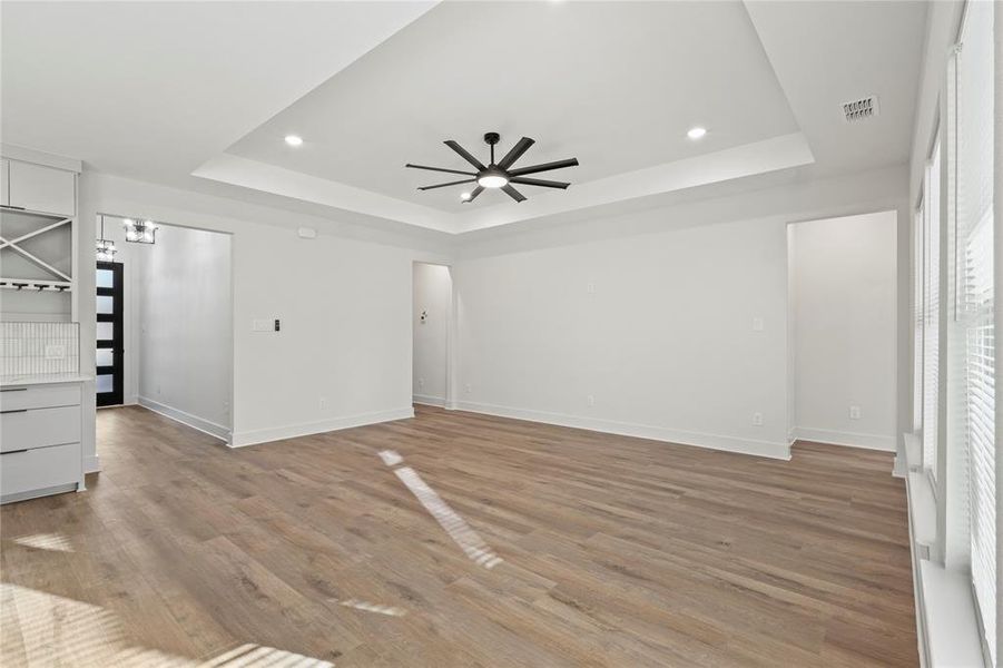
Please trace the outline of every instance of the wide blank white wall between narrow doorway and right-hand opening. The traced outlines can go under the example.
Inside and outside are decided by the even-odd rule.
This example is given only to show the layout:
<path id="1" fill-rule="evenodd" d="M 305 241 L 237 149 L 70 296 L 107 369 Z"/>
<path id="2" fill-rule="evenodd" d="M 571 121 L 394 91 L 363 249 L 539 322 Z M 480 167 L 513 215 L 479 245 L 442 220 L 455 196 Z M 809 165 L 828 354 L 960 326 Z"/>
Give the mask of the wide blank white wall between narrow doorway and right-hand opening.
<path id="1" fill-rule="evenodd" d="M 460 407 L 786 458 L 786 252 L 753 222 L 460 262 Z"/>

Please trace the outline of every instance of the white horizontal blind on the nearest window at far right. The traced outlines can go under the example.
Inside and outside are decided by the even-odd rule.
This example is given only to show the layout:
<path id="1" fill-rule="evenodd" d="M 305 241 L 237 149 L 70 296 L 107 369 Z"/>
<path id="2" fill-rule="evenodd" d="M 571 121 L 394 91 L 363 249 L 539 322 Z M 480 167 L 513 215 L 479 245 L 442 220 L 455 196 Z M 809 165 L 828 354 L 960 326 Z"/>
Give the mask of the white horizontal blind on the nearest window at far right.
<path id="1" fill-rule="evenodd" d="M 993 2 L 968 2 L 957 55 L 960 318 L 965 333 L 972 586 L 996 661 L 995 314 L 993 313 Z"/>

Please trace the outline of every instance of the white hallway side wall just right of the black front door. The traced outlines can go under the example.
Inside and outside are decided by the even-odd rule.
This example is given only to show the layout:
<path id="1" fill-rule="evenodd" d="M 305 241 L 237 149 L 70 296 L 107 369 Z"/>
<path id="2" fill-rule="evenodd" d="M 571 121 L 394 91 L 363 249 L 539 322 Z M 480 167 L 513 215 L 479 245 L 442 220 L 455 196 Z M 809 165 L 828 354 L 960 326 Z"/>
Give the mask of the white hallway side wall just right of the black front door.
<path id="1" fill-rule="evenodd" d="M 156 244 L 129 245 L 142 255 L 139 403 L 229 440 L 230 236 L 163 225 Z"/>

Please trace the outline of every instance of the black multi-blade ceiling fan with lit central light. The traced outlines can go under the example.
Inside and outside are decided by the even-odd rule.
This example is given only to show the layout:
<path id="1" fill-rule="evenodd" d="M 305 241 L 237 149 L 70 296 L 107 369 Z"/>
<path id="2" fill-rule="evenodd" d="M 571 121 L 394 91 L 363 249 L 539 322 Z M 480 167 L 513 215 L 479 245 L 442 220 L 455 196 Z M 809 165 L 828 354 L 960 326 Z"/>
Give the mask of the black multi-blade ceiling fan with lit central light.
<path id="1" fill-rule="evenodd" d="M 445 188 L 446 186 L 459 186 L 460 184 L 472 184 L 476 181 L 476 188 L 471 190 L 469 195 L 466 193 L 463 194 L 464 202 L 473 202 L 478 198 L 478 195 L 484 191 L 484 188 L 501 188 L 505 194 L 509 195 L 509 197 L 511 197 L 515 202 L 522 202 L 523 199 L 525 199 L 522 193 L 512 187 L 512 184 L 523 186 L 540 186 L 542 188 L 560 188 L 562 190 L 571 185 L 564 181 L 525 178 L 525 175 L 537 174 L 539 171 L 550 171 L 551 169 L 561 169 L 563 167 L 577 167 L 578 158 L 569 158 L 567 160 L 557 160 L 554 163 L 544 163 L 542 165 L 533 165 L 531 167 L 520 167 L 519 169 L 512 169 L 512 165 L 515 163 L 515 160 L 521 158 L 522 154 L 524 154 L 530 146 L 535 144 L 535 141 L 533 139 L 530 139 L 529 137 L 523 137 L 515 143 L 515 146 L 513 146 L 509 150 L 509 153 L 505 154 L 505 157 L 503 157 L 495 164 L 494 145 L 498 144 L 499 139 L 501 139 L 501 136 L 498 132 L 488 132 L 484 135 L 484 141 L 486 141 L 491 147 L 491 163 L 486 166 L 479 159 L 470 155 L 466 149 L 464 149 L 452 139 L 444 143 L 446 146 L 460 154 L 460 157 L 473 165 L 476 168 L 476 171 L 462 171 L 460 169 L 427 167 L 425 165 L 412 165 L 411 163 L 405 165 L 405 167 L 411 167 L 412 169 L 427 169 L 430 171 L 445 171 L 448 174 L 462 174 L 464 176 L 471 177 L 462 180 L 450 181 L 448 184 L 422 186 L 421 188 L 419 188 L 419 190 L 432 190 L 433 188 Z"/>

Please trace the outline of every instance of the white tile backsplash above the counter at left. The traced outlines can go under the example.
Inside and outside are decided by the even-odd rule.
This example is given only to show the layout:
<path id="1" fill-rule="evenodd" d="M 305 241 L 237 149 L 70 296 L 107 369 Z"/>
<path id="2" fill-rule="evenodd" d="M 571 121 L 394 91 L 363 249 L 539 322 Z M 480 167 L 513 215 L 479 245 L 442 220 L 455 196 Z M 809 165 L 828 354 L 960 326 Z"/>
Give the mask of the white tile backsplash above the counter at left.
<path id="1" fill-rule="evenodd" d="M 77 323 L 0 323 L 0 375 L 80 371 Z"/>

